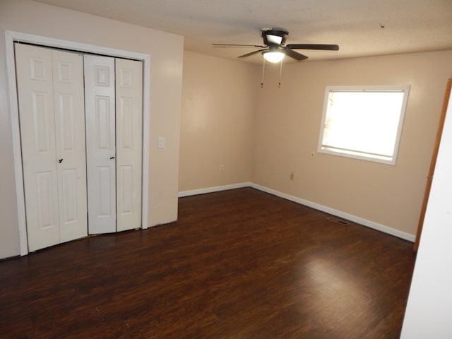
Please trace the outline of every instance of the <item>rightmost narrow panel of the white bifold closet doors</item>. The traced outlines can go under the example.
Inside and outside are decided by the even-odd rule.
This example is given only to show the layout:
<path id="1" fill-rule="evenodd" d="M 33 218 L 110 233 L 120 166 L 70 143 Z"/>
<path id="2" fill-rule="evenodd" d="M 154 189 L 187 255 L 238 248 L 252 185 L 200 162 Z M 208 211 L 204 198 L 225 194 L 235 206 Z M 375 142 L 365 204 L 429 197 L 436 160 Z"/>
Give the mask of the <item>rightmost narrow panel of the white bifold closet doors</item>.
<path id="1" fill-rule="evenodd" d="M 143 63 L 116 59 L 117 230 L 141 227 Z"/>

